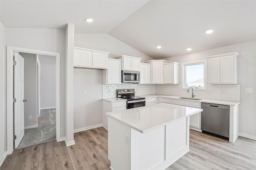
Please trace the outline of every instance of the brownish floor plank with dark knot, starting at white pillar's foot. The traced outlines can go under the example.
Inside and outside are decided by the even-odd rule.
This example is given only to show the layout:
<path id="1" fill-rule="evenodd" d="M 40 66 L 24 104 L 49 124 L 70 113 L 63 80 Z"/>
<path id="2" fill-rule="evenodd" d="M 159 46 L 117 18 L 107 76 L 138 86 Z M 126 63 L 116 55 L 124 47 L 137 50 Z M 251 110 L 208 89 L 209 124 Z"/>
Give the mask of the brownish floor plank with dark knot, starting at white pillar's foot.
<path id="1" fill-rule="evenodd" d="M 56 170 L 73 170 L 73 166 L 72 166 L 65 142 L 54 141 L 53 149 L 54 149 Z"/>

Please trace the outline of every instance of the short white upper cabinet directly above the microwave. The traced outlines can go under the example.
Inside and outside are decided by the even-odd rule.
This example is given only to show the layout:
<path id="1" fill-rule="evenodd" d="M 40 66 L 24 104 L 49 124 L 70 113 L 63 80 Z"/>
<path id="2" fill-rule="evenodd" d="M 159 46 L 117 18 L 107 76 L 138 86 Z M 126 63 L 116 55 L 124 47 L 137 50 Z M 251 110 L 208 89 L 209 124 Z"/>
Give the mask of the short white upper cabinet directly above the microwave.
<path id="1" fill-rule="evenodd" d="M 140 71 L 141 58 L 128 55 L 120 55 L 116 59 L 122 59 L 122 70 Z"/>

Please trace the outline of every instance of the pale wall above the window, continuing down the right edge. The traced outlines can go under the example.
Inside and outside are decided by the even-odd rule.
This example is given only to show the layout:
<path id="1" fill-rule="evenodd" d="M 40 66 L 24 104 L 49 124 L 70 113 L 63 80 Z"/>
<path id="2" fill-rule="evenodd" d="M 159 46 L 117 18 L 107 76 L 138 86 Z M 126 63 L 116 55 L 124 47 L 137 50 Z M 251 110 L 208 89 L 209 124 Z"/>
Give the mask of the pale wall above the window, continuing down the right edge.
<path id="1" fill-rule="evenodd" d="M 207 56 L 238 52 L 238 83 L 241 84 L 241 104 L 239 133 L 256 140 L 256 40 L 229 45 L 216 49 L 189 53 L 167 58 L 171 62 L 187 62 L 205 59 Z M 245 88 L 253 88 L 253 93 L 245 93 Z M 196 92 L 195 92 L 196 93 Z"/>

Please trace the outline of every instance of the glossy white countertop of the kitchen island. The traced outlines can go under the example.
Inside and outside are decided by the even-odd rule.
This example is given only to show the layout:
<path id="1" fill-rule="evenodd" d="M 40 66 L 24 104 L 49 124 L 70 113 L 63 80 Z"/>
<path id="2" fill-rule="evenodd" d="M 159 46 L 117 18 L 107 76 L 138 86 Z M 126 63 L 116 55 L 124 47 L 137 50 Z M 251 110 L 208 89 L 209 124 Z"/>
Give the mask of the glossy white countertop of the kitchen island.
<path id="1" fill-rule="evenodd" d="M 202 109 L 162 103 L 118 110 L 106 114 L 140 133 L 145 133 L 200 111 Z"/>

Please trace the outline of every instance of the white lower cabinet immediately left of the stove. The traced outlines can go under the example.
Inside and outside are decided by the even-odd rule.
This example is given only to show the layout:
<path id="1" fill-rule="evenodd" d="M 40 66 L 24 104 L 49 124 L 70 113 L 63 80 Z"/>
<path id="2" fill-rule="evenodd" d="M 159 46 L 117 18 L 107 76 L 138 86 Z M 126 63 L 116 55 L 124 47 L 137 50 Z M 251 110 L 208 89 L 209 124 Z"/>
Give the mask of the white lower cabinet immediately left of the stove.
<path id="1" fill-rule="evenodd" d="M 107 112 L 125 110 L 126 100 L 118 102 L 110 102 L 107 100 L 102 100 L 102 126 L 108 129 L 108 116 Z"/>

